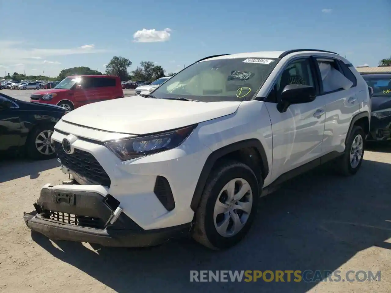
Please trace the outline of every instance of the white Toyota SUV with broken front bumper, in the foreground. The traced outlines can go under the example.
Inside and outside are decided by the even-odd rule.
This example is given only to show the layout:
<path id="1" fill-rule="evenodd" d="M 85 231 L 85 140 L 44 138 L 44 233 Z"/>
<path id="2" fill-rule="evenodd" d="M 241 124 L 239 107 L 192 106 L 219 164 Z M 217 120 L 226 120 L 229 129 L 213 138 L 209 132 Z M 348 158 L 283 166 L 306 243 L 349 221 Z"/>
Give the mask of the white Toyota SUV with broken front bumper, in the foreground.
<path id="1" fill-rule="evenodd" d="M 352 175 L 371 109 L 366 82 L 323 50 L 201 59 L 147 96 L 84 105 L 52 135 L 70 181 L 41 189 L 27 226 L 104 246 L 192 237 L 238 243 L 260 196 L 335 160 Z"/>

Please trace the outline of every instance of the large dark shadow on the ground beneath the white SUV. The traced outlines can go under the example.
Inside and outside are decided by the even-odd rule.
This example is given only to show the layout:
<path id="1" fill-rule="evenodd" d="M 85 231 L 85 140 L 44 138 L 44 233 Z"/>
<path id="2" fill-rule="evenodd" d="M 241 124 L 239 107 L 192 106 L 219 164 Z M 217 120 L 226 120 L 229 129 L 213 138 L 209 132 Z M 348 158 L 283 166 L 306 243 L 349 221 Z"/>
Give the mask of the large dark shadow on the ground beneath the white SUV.
<path id="1" fill-rule="evenodd" d="M 306 292 L 317 283 L 190 283 L 190 270 L 335 270 L 372 246 L 390 249 L 391 164 L 364 161 L 356 176 L 319 169 L 262 199 L 249 235 L 222 252 L 184 239 L 143 249 L 100 248 L 32 238 L 50 254 L 113 290 L 135 292 Z M 369 269 L 369 268 L 367 268 Z M 131 288 L 131 289 L 130 289 Z"/>

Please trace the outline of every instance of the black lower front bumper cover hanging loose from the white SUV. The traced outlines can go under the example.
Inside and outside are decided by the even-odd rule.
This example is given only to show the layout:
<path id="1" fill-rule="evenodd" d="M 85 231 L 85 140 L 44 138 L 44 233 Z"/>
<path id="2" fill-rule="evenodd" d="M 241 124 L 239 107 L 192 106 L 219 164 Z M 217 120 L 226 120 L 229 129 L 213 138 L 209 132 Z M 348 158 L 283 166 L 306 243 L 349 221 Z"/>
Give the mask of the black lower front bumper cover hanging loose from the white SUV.
<path id="1" fill-rule="evenodd" d="M 121 213 L 113 224 L 105 224 L 101 229 L 83 227 L 79 225 L 52 220 L 49 214 L 69 213 L 76 217 L 99 218 L 106 223 L 112 213 L 112 209 L 105 204 L 102 195 L 94 192 L 75 193 L 72 204 L 56 202 L 56 194 L 59 190 L 43 188 L 36 205 L 38 211 L 25 213 L 23 219 L 30 230 L 39 232 L 53 240 L 68 240 L 77 242 L 90 242 L 108 247 L 147 247 L 164 243 L 173 238 L 187 236 L 191 223 L 168 227 L 163 229 L 144 230 L 131 220 L 126 214 Z M 61 190 L 64 192 L 64 190 Z M 70 191 L 72 192 L 72 191 Z M 61 218 L 61 216 L 60 216 Z"/>

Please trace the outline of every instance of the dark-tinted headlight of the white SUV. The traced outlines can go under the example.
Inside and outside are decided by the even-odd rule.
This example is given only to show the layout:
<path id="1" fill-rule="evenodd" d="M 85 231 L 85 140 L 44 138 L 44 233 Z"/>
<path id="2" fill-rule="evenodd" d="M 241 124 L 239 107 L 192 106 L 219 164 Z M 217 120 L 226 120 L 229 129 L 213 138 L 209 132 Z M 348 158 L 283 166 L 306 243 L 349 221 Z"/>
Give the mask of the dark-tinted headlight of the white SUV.
<path id="1" fill-rule="evenodd" d="M 107 141 L 104 144 L 122 161 L 170 150 L 181 145 L 197 124 L 137 138 Z"/>

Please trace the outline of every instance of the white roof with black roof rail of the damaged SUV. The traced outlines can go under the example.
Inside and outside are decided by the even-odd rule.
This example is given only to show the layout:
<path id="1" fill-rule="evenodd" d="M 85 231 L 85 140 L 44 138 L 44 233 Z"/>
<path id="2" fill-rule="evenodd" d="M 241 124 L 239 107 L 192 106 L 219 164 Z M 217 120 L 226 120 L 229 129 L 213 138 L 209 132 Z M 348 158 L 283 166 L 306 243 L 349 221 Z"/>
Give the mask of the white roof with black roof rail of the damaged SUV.
<path id="1" fill-rule="evenodd" d="M 260 51 L 260 52 L 248 52 L 248 53 L 237 53 L 237 54 L 221 54 L 205 57 L 197 62 L 205 60 L 217 60 L 217 59 L 230 59 L 230 58 L 283 58 L 286 55 L 300 53 L 300 52 L 317 52 L 317 53 L 331 53 L 335 52 L 318 50 L 318 49 L 293 49 L 287 51 Z"/>

